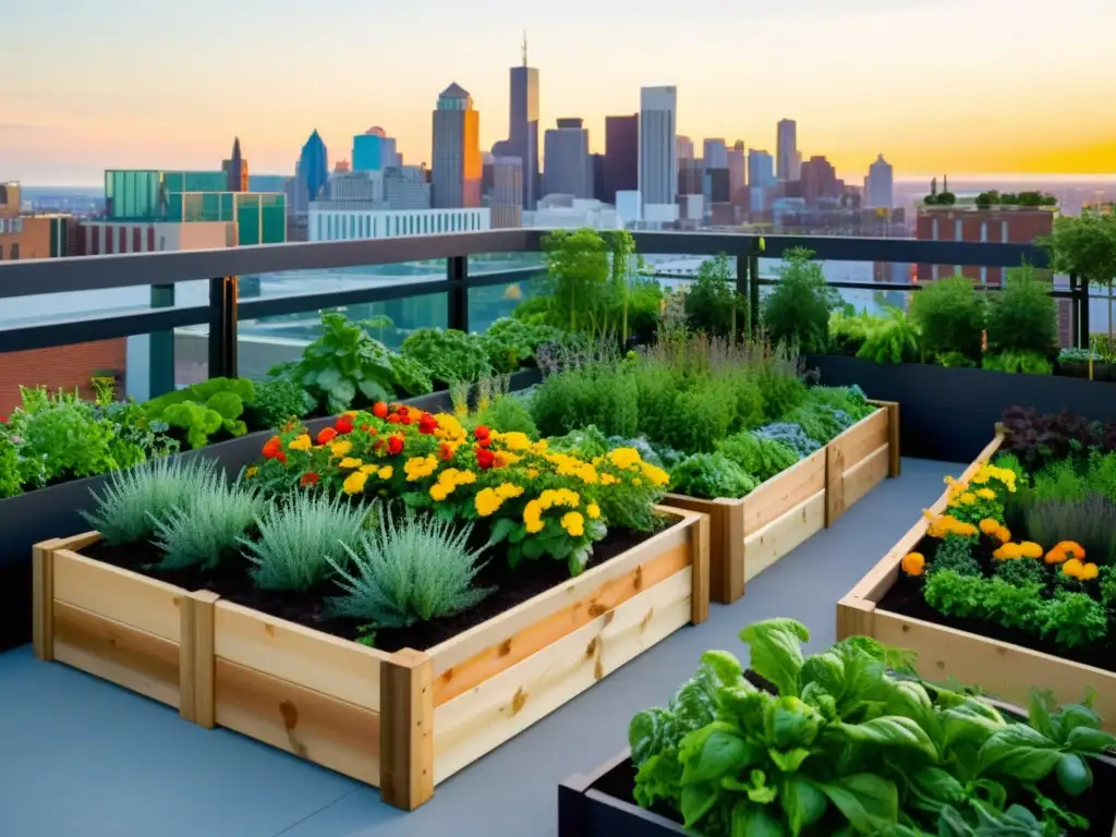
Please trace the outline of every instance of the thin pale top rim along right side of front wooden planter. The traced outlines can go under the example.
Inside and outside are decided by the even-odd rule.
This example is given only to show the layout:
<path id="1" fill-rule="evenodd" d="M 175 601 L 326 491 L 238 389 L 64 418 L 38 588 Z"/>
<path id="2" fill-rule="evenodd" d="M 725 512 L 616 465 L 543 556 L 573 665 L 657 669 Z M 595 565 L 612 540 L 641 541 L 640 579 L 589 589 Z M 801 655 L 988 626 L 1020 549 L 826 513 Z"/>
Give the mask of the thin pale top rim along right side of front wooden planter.
<path id="1" fill-rule="evenodd" d="M 427 653 L 434 658 L 434 676 L 441 677 L 448 670 L 461 665 L 488 648 L 499 646 L 504 639 L 516 636 L 547 616 L 567 610 L 571 604 L 587 599 L 605 581 L 628 575 L 639 565 L 671 550 L 681 548 L 682 554 L 685 554 L 690 543 L 687 531 L 690 522 L 676 512 L 675 517 L 677 522 L 673 526 L 653 535 L 624 555 L 430 648 Z M 445 680 L 452 679 L 451 675 Z M 435 684 L 435 690 L 441 687 Z"/>

